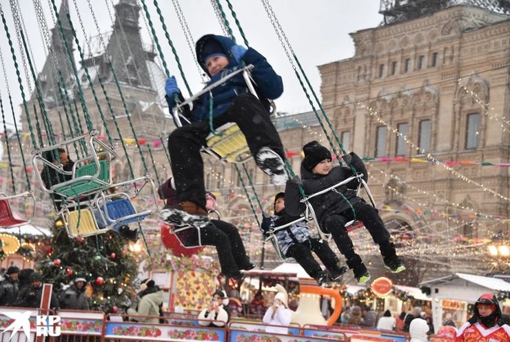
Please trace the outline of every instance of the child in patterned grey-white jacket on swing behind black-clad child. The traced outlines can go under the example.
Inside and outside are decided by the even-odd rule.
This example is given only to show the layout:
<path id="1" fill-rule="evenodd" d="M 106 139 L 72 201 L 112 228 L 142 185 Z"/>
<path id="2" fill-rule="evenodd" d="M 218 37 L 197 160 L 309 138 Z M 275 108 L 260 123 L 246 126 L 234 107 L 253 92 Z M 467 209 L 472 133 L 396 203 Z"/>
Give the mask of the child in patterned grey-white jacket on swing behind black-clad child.
<path id="1" fill-rule="evenodd" d="M 261 228 L 267 232 L 270 228 L 278 227 L 296 221 L 298 217 L 292 217 L 285 212 L 285 199 L 283 192 L 274 197 L 274 216 L 264 217 Z M 327 241 L 310 236 L 307 223 L 298 221 L 287 228 L 277 230 L 275 233 L 281 252 L 296 261 L 303 269 L 314 278 L 321 286 L 327 285 L 332 280 L 340 279 L 347 272 L 345 266 L 338 265 L 338 257 L 329 248 Z M 318 262 L 312 256 L 312 251 L 317 254 L 320 261 L 326 266 L 327 271 L 320 268 Z"/>

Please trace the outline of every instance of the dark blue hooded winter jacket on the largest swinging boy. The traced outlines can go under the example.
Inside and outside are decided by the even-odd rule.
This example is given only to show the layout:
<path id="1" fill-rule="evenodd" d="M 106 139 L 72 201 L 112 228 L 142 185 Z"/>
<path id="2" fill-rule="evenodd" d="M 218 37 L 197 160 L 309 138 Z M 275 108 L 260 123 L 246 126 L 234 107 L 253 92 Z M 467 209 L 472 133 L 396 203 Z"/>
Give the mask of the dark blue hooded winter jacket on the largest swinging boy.
<path id="1" fill-rule="evenodd" d="M 225 54 L 227 55 L 227 58 L 229 60 L 229 64 L 227 68 L 222 70 L 221 72 L 218 72 L 218 74 L 215 74 L 211 77 L 210 81 L 207 82 L 205 87 L 209 86 L 210 84 L 218 81 L 219 79 L 222 79 L 223 77 L 227 76 L 227 74 L 230 74 L 230 72 L 233 72 L 235 70 L 238 70 L 239 68 L 242 68 L 243 66 L 240 66 L 239 63 L 237 63 L 236 59 L 232 56 L 232 52 L 230 52 L 230 49 L 232 46 L 234 46 L 234 41 L 232 39 L 218 36 L 215 34 L 206 34 L 204 37 L 199 39 L 196 42 L 196 58 L 198 60 L 198 63 L 201 65 L 203 70 L 207 73 L 207 67 L 203 65 L 201 62 L 203 60 L 203 46 L 205 42 L 209 39 L 216 39 L 221 46 L 225 49 Z M 267 108 L 267 103 L 265 103 L 265 99 L 277 99 L 280 97 L 280 95 L 283 92 L 283 82 L 280 76 L 274 72 L 272 66 L 267 63 L 265 57 L 263 57 L 262 54 L 258 53 L 253 48 L 248 48 L 245 55 L 243 56 L 243 62 L 245 65 L 253 64 L 254 69 L 252 70 L 252 79 L 254 80 L 254 86 L 256 89 L 256 92 L 258 94 L 259 99 L 263 102 L 263 105 Z M 212 90 L 212 100 L 213 100 L 213 110 L 212 110 L 212 116 L 213 117 L 219 117 L 221 114 L 225 113 L 228 108 L 230 108 L 230 105 L 232 104 L 232 101 L 234 98 L 243 92 L 249 92 L 245 80 L 243 78 L 243 74 L 239 73 L 235 77 L 232 77 L 231 79 L 225 81 L 225 83 L 221 84 L 221 86 L 218 86 Z M 179 97 L 181 98 L 181 101 L 183 100 L 183 97 L 181 94 L 179 94 Z M 176 105 L 173 98 L 166 96 L 168 107 L 170 110 L 174 108 Z M 183 114 L 187 119 L 190 119 L 190 121 L 203 121 L 205 119 L 209 119 L 210 116 L 210 93 L 207 92 L 206 94 L 203 94 L 201 97 L 198 97 L 193 102 L 193 109 L 190 110 L 188 106 L 185 106 L 183 108 Z"/>

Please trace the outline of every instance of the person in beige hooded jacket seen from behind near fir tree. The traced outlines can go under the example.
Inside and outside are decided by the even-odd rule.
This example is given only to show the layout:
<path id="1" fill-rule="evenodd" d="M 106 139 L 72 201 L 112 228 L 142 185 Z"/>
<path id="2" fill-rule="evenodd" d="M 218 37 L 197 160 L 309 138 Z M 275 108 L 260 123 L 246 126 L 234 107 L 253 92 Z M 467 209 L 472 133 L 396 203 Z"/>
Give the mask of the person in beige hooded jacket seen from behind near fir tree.
<path id="1" fill-rule="evenodd" d="M 163 290 L 152 279 L 143 279 L 140 284 L 136 308 L 128 308 L 132 321 L 145 323 L 161 323 L 163 312 Z"/>

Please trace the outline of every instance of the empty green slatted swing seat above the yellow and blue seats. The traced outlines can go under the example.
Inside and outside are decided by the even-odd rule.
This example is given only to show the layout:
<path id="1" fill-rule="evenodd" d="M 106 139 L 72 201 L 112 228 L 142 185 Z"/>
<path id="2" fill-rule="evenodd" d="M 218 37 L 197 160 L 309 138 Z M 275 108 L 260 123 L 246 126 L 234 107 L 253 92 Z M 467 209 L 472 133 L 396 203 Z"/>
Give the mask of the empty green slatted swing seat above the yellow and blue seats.
<path id="1" fill-rule="evenodd" d="M 99 174 L 97 164 L 90 163 L 76 168 L 74 179 L 58 184 L 53 191 L 67 197 L 78 197 L 81 194 L 107 189 L 110 184 L 110 169 L 107 161 L 99 161 Z"/>

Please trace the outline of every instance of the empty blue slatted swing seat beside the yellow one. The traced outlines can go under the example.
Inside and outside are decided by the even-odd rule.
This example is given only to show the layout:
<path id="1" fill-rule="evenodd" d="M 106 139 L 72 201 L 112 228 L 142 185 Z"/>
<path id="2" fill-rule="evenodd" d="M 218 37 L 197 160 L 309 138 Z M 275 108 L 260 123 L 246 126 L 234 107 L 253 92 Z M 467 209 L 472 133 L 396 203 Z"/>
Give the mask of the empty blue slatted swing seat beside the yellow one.
<path id="1" fill-rule="evenodd" d="M 94 210 L 99 227 L 106 228 L 108 226 L 114 230 L 121 228 L 122 225 L 143 221 L 150 214 L 150 212 L 137 214 L 131 201 L 125 198 L 108 201 L 105 205 L 101 205 L 100 210 L 101 213 L 97 209 Z"/>

